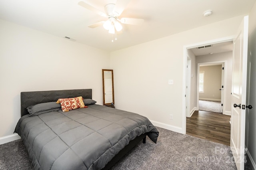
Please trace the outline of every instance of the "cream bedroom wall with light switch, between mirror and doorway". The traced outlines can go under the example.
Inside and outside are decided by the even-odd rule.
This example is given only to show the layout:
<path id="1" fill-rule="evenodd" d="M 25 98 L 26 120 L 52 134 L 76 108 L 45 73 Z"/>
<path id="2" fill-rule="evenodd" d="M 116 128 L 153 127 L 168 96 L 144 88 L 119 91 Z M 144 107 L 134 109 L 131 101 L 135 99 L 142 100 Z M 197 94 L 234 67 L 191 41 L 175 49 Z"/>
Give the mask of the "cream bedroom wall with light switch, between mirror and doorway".
<path id="1" fill-rule="evenodd" d="M 116 108 L 140 113 L 155 125 L 182 132 L 184 46 L 233 36 L 242 17 L 112 52 Z M 174 85 L 168 85 L 169 79 Z"/>

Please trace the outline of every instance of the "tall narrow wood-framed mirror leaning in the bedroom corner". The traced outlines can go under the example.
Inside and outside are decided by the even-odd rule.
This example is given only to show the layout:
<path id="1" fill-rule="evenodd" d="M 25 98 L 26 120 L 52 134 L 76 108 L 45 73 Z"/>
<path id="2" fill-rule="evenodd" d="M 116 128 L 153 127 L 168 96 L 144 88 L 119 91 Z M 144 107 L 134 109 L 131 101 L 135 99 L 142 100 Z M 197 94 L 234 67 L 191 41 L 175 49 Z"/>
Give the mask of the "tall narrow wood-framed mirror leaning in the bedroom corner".
<path id="1" fill-rule="evenodd" d="M 113 70 L 102 69 L 103 105 L 114 107 L 114 79 Z"/>

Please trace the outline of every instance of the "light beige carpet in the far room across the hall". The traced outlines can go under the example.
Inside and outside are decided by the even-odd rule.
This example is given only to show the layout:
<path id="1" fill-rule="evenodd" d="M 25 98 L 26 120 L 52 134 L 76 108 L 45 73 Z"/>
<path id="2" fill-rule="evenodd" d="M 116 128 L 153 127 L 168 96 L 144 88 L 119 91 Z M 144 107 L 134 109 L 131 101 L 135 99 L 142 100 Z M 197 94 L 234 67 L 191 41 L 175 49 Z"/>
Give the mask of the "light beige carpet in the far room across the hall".
<path id="1" fill-rule="evenodd" d="M 222 113 L 220 101 L 199 100 L 199 110 Z"/>

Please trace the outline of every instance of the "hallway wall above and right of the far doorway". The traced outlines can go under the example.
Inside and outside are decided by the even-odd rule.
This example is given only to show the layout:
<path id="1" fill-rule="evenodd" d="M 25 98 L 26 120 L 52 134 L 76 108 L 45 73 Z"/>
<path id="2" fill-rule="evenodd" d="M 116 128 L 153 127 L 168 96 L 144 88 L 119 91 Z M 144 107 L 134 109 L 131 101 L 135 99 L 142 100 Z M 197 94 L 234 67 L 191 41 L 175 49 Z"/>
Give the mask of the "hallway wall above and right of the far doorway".
<path id="1" fill-rule="evenodd" d="M 223 114 L 231 115 L 231 88 L 232 88 L 232 67 L 233 67 L 233 52 L 216 53 L 211 55 L 196 56 L 196 64 L 207 63 L 214 61 L 226 61 L 225 80 L 224 80 L 224 106 Z"/>

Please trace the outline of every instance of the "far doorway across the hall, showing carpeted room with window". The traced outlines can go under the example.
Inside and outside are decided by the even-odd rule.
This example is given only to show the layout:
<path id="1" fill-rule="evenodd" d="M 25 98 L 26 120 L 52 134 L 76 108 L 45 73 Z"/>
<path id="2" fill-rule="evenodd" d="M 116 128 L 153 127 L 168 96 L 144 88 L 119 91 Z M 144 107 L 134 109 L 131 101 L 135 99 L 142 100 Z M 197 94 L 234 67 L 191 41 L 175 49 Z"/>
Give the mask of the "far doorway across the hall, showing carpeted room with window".
<path id="1" fill-rule="evenodd" d="M 226 100 L 223 99 L 226 61 L 198 63 L 198 110 L 222 113 Z"/>

